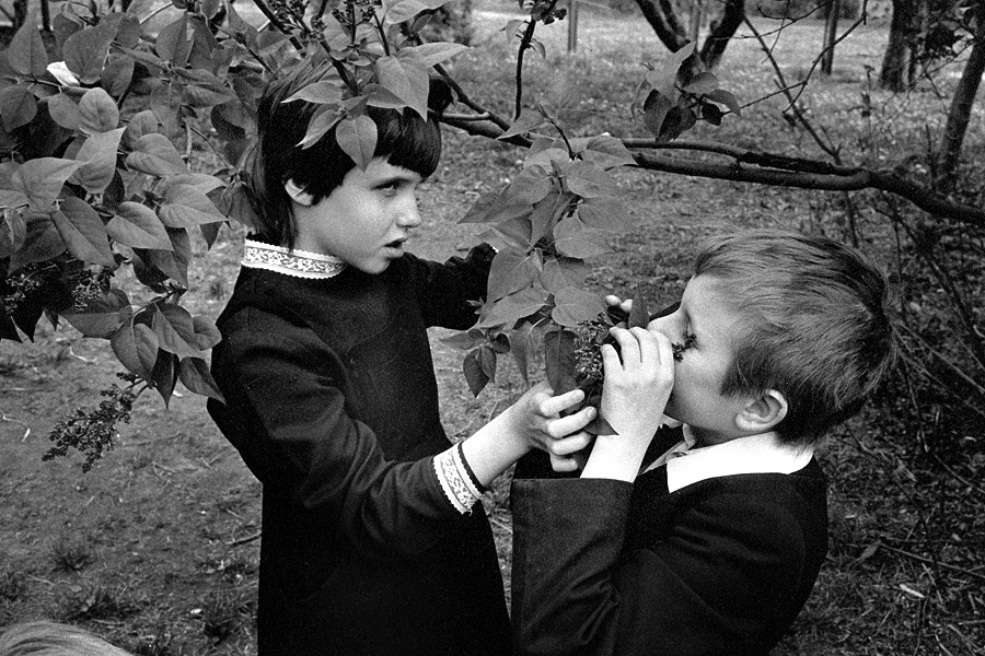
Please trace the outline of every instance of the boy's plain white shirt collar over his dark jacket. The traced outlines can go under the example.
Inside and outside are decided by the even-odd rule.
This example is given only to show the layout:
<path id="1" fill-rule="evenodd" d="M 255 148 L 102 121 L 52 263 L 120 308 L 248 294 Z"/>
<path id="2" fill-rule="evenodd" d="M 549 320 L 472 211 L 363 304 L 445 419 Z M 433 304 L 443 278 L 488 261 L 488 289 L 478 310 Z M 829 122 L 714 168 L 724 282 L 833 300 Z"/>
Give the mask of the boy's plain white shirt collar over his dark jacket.
<path id="1" fill-rule="evenodd" d="M 648 469 L 667 462 L 667 487 L 676 492 L 699 481 L 740 473 L 793 473 L 814 456 L 813 445 L 786 444 L 775 432 L 737 437 L 722 444 L 691 448 L 695 443 L 691 426 L 682 426 L 684 441 L 671 448 L 686 457 L 658 458 Z M 686 449 L 686 450 L 685 450 Z"/>

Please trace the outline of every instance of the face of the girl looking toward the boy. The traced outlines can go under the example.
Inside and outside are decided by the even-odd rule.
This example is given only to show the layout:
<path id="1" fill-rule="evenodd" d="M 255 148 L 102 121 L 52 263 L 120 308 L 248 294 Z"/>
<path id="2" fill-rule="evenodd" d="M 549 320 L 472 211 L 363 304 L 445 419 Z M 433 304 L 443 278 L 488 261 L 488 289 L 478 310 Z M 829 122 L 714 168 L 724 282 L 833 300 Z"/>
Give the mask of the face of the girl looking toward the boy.
<path id="1" fill-rule="evenodd" d="M 410 230 L 420 225 L 417 173 L 382 157 L 354 167 L 343 184 L 311 207 L 294 207 L 294 247 L 334 255 L 366 273 L 381 273 L 404 255 Z"/>

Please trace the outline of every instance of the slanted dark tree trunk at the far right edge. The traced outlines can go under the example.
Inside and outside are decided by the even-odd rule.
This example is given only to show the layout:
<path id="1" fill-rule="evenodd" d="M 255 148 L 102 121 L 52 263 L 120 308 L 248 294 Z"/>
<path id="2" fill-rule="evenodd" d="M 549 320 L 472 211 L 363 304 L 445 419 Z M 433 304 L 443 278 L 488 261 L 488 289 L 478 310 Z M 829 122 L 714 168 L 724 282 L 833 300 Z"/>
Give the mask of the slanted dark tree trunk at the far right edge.
<path id="1" fill-rule="evenodd" d="M 985 73 L 985 26 L 980 25 L 958 89 L 954 90 L 954 97 L 951 98 L 948 122 L 938 148 L 934 186 L 943 194 L 952 192 L 958 181 L 961 145 L 964 142 L 964 133 L 967 131 L 967 122 L 983 73 Z"/>

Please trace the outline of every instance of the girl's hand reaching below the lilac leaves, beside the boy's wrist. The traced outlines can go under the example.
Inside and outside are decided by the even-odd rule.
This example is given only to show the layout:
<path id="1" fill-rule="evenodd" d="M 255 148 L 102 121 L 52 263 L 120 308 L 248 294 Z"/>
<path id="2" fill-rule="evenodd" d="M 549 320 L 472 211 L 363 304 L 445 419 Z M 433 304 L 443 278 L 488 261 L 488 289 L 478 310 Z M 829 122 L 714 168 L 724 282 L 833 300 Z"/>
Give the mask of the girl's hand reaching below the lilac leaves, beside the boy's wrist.
<path id="1" fill-rule="evenodd" d="M 518 402 L 523 411 L 523 432 L 530 444 L 551 456 L 555 471 L 575 471 L 579 461 L 573 454 L 587 447 L 592 435 L 582 429 L 594 418 L 596 410 L 587 406 L 567 417 L 560 413 L 584 399 L 584 393 L 572 389 L 567 394 L 551 396 L 551 387 L 541 383 Z"/>

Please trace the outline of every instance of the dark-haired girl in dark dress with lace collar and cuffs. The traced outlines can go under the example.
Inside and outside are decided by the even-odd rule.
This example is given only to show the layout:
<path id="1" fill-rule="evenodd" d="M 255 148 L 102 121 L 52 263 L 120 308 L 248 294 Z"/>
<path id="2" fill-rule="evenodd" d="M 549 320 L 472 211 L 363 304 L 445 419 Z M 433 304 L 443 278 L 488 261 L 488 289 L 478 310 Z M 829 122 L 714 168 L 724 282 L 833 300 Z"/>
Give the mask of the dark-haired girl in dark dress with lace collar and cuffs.
<path id="1" fill-rule="evenodd" d="M 590 413 L 560 420 L 579 395 L 534 390 L 450 448 L 426 329 L 475 321 L 493 250 L 444 265 L 404 251 L 437 122 L 370 107 L 366 169 L 334 130 L 299 148 L 315 105 L 285 101 L 328 74 L 302 65 L 259 102 L 259 234 L 212 355 L 225 403 L 209 413 L 264 484 L 259 654 L 508 654 L 493 534 L 473 506 Z"/>

